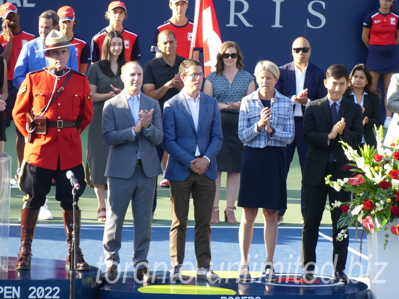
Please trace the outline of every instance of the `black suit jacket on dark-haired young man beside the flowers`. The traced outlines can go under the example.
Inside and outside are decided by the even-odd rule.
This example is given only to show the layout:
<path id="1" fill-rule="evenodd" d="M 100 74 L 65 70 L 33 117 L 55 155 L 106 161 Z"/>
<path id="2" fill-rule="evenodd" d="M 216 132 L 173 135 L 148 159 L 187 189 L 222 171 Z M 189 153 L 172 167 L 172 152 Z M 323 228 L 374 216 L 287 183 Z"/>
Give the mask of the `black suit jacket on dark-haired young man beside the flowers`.
<path id="1" fill-rule="evenodd" d="M 344 154 L 340 138 L 351 147 L 356 148 L 362 140 L 363 116 L 360 105 L 345 98 L 341 101 L 337 121 L 345 119 L 345 129 L 342 136 L 337 135 L 335 152 L 337 157 L 337 178 L 344 178 L 351 174 L 342 167 L 349 162 Z M 303 116 L 302 137 L 310 148 L 306 154 L 302 183 L 316 186 L 324 180 L 324 172 L 328 163 L 331 143 L 328 135 L 333 128 L 330 105 L 327 97 L 308 103 Z"/>

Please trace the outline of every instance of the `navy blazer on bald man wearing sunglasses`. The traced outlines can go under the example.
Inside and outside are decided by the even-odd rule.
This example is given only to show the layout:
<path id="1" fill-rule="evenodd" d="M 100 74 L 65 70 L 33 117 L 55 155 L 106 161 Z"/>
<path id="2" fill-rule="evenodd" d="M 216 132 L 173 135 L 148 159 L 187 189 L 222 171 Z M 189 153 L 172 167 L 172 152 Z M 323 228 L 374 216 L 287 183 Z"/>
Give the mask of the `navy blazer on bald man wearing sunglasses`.
<path id="1" fill-rule="evenodd" d="M 296 95 L 295 65 L 294 62 L 287 63 L 279 67 L 280 77 L 274 87 L 279 93 L 287 98 Z M 327 89 L 324 87 L 326 72 L 309 61 L 306 69 L 305 82 L 303 89 L 308 89 L 308 99 L 311 101 L 324 98 L 327 95 Z M 306 106 L 302 105 L 302 115 Z"/>

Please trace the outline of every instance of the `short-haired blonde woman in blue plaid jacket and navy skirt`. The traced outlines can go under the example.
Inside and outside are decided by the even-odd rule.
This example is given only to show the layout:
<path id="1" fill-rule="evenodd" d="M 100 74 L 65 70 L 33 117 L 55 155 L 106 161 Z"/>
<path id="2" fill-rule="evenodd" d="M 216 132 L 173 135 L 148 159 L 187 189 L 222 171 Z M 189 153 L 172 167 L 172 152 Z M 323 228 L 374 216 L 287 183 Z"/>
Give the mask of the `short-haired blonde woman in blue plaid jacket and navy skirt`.
<path id="1" fill-rule="evenodd" d="M 242 207 L 238 274 L 242 282 L 251 280 L 248 252 L 259 208 L 264 218 L 265 279 L 276 281 L 273 255 L 278 234 L 277 211 L 287 209 L 284 147 L 292 143 L 295 135 L 291 99 L 274 89 L 279 68 L 273 62 L 261 60 L 254 73 L 259 88 L 242 99 L 238 120 L 238 137 L 245 146 L 237 203 Z"/>

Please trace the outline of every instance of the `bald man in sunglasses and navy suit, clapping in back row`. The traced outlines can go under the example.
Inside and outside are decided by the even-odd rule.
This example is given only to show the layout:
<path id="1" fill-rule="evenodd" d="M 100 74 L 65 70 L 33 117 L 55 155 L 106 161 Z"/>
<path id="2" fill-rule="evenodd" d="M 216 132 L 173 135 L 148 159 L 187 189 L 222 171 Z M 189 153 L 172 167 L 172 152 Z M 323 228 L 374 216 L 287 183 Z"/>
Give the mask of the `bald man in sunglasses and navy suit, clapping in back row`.
<path id="1" fill-rule="evenodd" d="M 326 74 L 320 67 L 309 61 L 312 49 L 310 42 L 305 37 L 298 37 L 292 44 L 292 57 L 294 61 L 280 66 L 280 77 L 276 84 L 276 89 L 282 95 L 292 100 L 295 121 L 294 141 L 285 147 L 287 158 L 287 175 L 294 157 L 295 148 L 298 151 L 301 173 L 305 165 L 305 156 L 309 146 L 302 138 L 303 113 L 306 104 L 310 101 L 324 98 L 327 95 L 327 89 L 324 86 Z M 303 187 L 301 188 L 301 213 L 304 216 L 303 205 Z M 285 210 L 278 211 L 279 223 L 282 222 L 282 216 Z"/>

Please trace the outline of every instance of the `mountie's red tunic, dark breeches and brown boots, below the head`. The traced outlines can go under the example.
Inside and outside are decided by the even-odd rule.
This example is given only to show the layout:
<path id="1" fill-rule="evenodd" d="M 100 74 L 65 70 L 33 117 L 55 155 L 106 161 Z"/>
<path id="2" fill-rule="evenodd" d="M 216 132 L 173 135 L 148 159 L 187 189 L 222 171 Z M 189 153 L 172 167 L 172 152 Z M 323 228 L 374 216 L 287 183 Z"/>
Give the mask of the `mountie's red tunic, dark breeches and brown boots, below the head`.
<path id="1" fill-rule="evenodd" d="M 68 81 L 66 82 L 66 80 Z M 63 86 L 64 89 L 62 89 Z M 60 90 L 62 90 L 61 93 L 59 93 Z M 47 105 L 50 99 L 54 99 L 54 101 Z M 46 107 L 46 109 L 41 113 L 43 107 Z M 30 270 L 34 228 L 39 208 L 44 204 L 51 189 L 52 178 L 54 178 L 56 184 L 55 199 L 60 201 L 63 209 L 68 243 L 66 264 L 70 266 L 73 196 L 72 186 L 66 177 L 66 172 L 71 170 L 80 184 L 81 190 L 77 191 L 76 194 L 78 200 L 86 186 L 80 133 L 86 129 L 93 116 L 93 102 L 86 76 L 69 68 L 56 71 L 47 67 L 43 70 L 28 73 L 19 88 L 12 110 L 15 125 L 25 137 L 28 136 L 26 113 L 31 111 L 35 116 L 41 115 L 47 118 L 45 120 L 47 131 L 42 130 L 35 133 L 33 141 L 26 143 L 24 149 L 24 160 L 19 174 L 18 186 L 26 195 L 21 210 L 21 247 L 18 259 L 15 262 L 15 269 Z M 80 219 L 81 210 L 78 209 L 76 211 L 75 231 L 77 240 L 76 270 L 89 271 L 89 265 L 84 261 L 82 251 L 79 248 Z"/>

